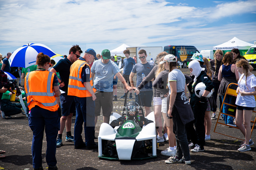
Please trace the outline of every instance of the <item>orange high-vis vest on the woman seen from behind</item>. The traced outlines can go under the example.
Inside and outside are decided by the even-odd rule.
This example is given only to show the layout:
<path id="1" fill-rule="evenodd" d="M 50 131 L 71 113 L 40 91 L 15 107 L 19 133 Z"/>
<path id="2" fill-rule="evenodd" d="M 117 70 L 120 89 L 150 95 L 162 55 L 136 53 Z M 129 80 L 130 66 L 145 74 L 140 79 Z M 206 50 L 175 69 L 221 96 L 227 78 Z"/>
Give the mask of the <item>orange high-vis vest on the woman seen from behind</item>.
<path id="1" fill-rule="evenodd" d="M 54 73 L 49 71 L 31 71 L 24 81 L 28 99 L 28 108 L 31 110 L 36 105 L 50 111 L 57 111 L 59 105 L 53 92 Z"/>

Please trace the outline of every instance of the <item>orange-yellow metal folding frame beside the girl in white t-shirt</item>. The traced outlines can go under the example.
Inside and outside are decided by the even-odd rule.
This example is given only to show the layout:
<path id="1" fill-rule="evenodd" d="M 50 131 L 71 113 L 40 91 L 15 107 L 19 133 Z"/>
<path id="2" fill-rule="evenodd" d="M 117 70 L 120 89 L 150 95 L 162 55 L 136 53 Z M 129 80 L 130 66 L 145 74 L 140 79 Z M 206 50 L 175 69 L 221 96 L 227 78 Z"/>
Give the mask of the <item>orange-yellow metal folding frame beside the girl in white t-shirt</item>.
<path id="1" fill-rule="evenodd" d="M 238 85 L 238 84 L 236 84 L 236 83 L 230 83 L 230 84 L 228 85 L 228 88 L 227 88 L 227 91 L 226 91 L 226 93 L 225 93 L 223 102 L 222 102 L 222 104 L 221 104 L 220 114 L 224 114 L 224 115 L 228 115 L 228 116 L 235 117 L 235 114 L 236 114 L 236 111 L 237 111 L 237 105 L 235 105 L 235 101 L 236 101 L 236 98 L 237 98 L 237 92 L 236 92 L 236 90 L 229 88 L 232 84 Z M 231 103 L 225 103 L 225 102 L 224 102 L 227 95 L 233 96 Z M 254 96 L 254 98 L 255 98 L 255 100 L 256 100 L 256 96 Z M 227 113 L 221 112 L 221 110 L 223 110 L 223 104 L 228 105 L 228 112 L 227 112 Z M 252 111 L 252 112 L 253 112 L 253 113 L 256 113 L 256 111 Z M 216 125 L 215 125 L 215 128 L 214 128 L 214 131 L 213 131 L 213 132 L 219 133 L 219 134 L 221 134 L 221 135 L 225 135 L 225 134 L 223 134 L 223 132 L 220 133 L 220 132 L 216 132 L 216 131 L 215 131 L 217 125 L 218 125 L 218 124 L 221 124 L 221 125 L 225 125 L 225 126 L 229 126 L 229 127 L 233 127 L 233 126 L 226 125 L 225 123 L 219 122 L 220 114 L 219 114 L 218 119 L 217 119 L 217 121 L 216 121 Z M 256 117 L 255 117 L 254 121 L 251 120 L 251 123 L 253 123 L 253 125 L 252 125 L 252 131 L 253 131 L 255 122 L 256 122 Z M 238 129 L 238 127 L 233 127 L 233 128 L 237 128 L 237 129 Z M 223 129 L 221 129 L 221 130 L 223 130 Z M 252 131 L 251 131 L 251 136 L 252 136 Z M 229 136 L 229 135 L 225 135 L 225 136 Z M 229 137 L 236 138 L 236 137 L 234 137 L 234 136 L 229 136 Z M 236 138 L 236 139 L 240 139 L 240 138 Z M 243 140 L 243 139 L 240 139 L 240 140 Z"/>

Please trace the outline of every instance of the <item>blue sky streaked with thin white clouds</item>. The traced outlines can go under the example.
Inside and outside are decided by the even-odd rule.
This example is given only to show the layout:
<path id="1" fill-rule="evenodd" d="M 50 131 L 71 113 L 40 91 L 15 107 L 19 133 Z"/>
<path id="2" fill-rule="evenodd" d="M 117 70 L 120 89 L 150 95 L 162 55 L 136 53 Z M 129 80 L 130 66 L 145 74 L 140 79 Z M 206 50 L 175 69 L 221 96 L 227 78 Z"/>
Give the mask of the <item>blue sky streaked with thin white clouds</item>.
<path id="1" fill-rule="evenodd" d="M 193 45 L 199 51 L 233 37 L 256 41 L 256 1 L 0 0 L 0 53 L 42 43 L 68 55 L 134 46 Z M 82 54 L 83 55 L 83 54 Z"/>

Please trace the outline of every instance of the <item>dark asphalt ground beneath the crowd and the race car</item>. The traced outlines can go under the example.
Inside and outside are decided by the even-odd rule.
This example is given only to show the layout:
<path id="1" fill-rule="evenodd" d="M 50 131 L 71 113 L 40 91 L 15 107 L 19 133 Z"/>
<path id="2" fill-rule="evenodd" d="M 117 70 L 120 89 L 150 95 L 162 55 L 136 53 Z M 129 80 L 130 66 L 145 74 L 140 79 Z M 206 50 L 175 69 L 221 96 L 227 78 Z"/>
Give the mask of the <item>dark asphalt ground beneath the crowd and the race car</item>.
<path id="1" fill-rule="evenodd" d="M 184 74 L 189 74 L 189 70 L 181 69 Z M 253 71 L 256 74 L 256 71 Z M 134 78 L 135 79 L 135 78 Z M 114 101 L 114 106 L 124 104 L 124 99 L 120 99 L 124 90 L 122 84 L 118 81 L 118 101 Z M 133 93 L 134 97 L 134 93 Z M 134 100 L 134 99 L 128 99 Z M 217 100 L 217 105 L 219 101 Z M 122 109 L 114 109 L 113 112 L 121 114 Z M 152 108 L 153 111 L 153 101 Z M 219 110 L 216 112 L 218 116 Z M 253 114 L 252 119 L 255 119 Z M 212 120 L 211 140 L 206 141 L 205 151 L 192 153 L 191 164 L 166 164 L 164 161 L 168 156 L 160 154 L 161 151 L 168 148 L 168 142 L 159 144 L 157 148 L 157 157 L 144 160 L 105 160 L 98 157 L 98 150 L 74 149 L 71 142 L 65 142 L 66 129 L 63 132 L 63 146 L 56 149 L 56 159 L 58 169 L 256 169 L 256 145 L 251 146 L 252 150 L 247 152 L 238 152 L 242 140 L 214 133 L 217 120 Z M 224 122 L 224 120 L 219 120 Z M 95 127 L 96 137 L 99 134 L 100 125 L 103 117 L 99 116 L 98 123 Z M 72 131 L 74 130 L 75 117 L 72 118 Z M 252 125 L 252 124 L 251 124 Z M 240 130 L 229 128 L 225 125 L 218 125 L 216 132 L 224 133 L 237 138 L 244 138 Z M 72 132 L 73 134 L 73 132 Z M 0 159 L 0 169 L 20 170 L 33 169 L 31 144 L 33 133 L 28 126 L 28 119 L 25 115 L 18 114 L 9 119 L 0 119 L 0 150 L 6 151 L 6 158 Z M 82 133 L 84 139 L 84 133 Z M 252 140 L 256 142 L 255 128 L 252 133 Z M 95 142 L 98 142 L 95 139 Z M 125 144 L 124 144 L 125 145 Z M 43 139 L 42 162 L 43 168 L 47 169 L 46 164 L 46 138 Z"/>

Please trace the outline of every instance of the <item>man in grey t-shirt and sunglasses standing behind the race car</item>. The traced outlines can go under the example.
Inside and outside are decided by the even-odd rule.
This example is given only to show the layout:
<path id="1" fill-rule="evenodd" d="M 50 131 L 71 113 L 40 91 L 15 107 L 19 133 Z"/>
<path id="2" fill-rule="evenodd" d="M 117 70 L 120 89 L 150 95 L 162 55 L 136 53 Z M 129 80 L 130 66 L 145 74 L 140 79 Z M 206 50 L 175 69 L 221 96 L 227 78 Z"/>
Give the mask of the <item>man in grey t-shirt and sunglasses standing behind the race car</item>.
<path id="1" fill-rule="evenodd" d="M 154 67 L 153 64 L 147 62 L 147 53 L 145 50 L 139 51 L 139 59 L 141 60 L 141 63 L 137 63 L 133 66 L 132 72 L 129 77 L 131 86 L 134 89 L 136 89 L 136 87 L 142 82 L 142 73 L 144 73 L 145 76 L 147 76 Z M 135 73 L 137 73 L 136 87 L 134 86 L 133 83 L 133 77 Z M 151 112 L 150 107 L 153 97 L 152 81 L 145 84 L 145 86 L 141 89 L 139 95 L 141 98 L 142 107 L 145 107 L 145 116 L 147 116 Z M 135 101 L 139 104 L 138 95 L 135 95 Z"/>

